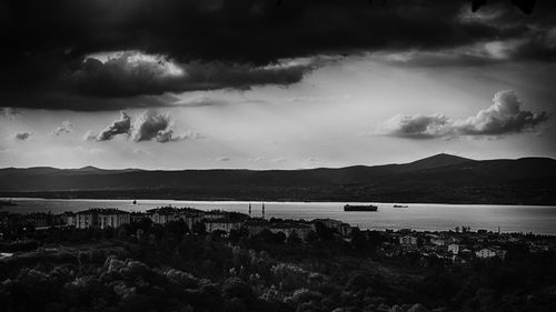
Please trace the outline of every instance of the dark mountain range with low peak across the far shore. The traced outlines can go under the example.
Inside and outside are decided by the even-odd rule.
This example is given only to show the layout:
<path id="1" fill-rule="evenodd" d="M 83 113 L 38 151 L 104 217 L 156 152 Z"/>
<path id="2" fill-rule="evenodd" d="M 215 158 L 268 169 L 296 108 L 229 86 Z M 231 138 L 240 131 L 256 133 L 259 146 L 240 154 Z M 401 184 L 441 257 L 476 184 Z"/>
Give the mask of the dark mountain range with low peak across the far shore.
<path id="1" fill-rule="evenodd" d="M 556 160 L 437 154 L 302 170 L 0 169 L 1 197 L 555 204 Z"/>

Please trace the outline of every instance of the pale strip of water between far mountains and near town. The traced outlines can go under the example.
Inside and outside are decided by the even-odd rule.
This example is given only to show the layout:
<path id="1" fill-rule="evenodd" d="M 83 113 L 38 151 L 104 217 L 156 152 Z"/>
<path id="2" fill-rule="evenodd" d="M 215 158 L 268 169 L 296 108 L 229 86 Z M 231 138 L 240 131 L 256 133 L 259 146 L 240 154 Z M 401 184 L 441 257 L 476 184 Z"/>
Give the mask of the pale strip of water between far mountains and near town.
<path id="1" fill-rule="evenodd" d="M 80 211 L 89 208 L 119 208 L 127 211 L 146 211 L 171 204 L 200 210 L 226 210 L 248 212 L 249 202 L 242 201 L 173 201 L 173 200 L 49 200 L 14 199 L 17 207 L 4 207 L 2 211 L 29 213 Z M 340 202 L 265 202 L 266 218 L 305 219 L 331 218 L 361 229 L 414 229 L 441 231 L 456 227 L 470 227 L 503 232 L 533 232 L 556 235 L 556 207 L 538 205 L 488 205 L 488 204 L 408 204 L 394 208 L 394 203 L 373 203 L 377 212 L 345 212 Z M 260 217 L 261 203 L 251 202 L 252 215 Z"/>

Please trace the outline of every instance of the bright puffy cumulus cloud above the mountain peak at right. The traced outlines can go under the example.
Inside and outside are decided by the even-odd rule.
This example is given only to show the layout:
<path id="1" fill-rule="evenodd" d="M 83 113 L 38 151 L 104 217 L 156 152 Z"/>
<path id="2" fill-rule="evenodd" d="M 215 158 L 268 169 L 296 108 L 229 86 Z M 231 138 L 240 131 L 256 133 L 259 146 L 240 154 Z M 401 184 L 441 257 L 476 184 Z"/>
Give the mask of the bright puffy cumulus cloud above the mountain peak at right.
<path id="1" fill-rule="evenodd" d="M 383 124 L 383 133 L 413 139 L 454 138 L 459 135 L 505 135 L 534 131 L 548 120 L 548 113 L 522 110 L 513 90 L 499 91 L 493 104 L 466 119 L 453 120 L 443 114 L 396 115 Z"/>

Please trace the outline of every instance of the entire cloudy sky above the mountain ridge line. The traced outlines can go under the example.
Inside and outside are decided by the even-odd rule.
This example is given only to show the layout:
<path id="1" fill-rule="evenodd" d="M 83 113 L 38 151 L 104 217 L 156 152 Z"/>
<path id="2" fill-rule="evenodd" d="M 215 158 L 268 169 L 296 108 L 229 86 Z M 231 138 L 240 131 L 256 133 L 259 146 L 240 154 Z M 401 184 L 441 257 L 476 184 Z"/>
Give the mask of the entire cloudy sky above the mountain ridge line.
<path id="1" fill-rule="evenodd" d="M 0 167 L 555 158 L 556 4 L 470 2 L 0 0 Z"/>

